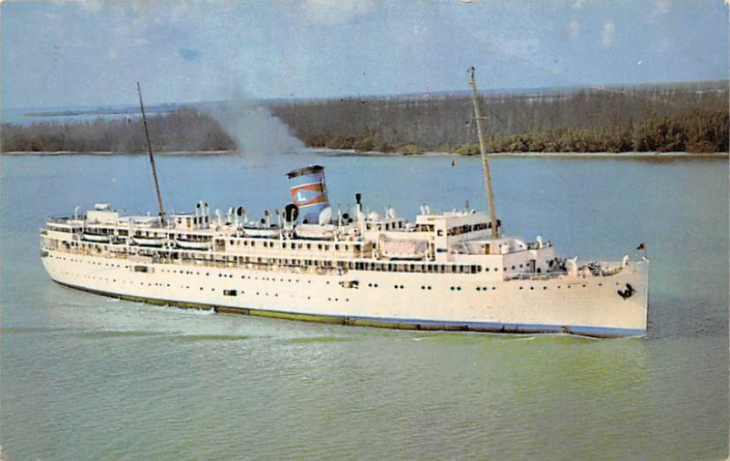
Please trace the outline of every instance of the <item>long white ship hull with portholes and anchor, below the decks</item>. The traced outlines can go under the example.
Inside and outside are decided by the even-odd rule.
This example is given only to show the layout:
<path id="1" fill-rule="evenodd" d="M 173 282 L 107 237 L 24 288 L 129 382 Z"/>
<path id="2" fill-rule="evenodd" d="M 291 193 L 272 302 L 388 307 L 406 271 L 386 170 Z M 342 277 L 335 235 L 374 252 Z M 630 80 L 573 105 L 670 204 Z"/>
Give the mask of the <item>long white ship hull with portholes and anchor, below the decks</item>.
<path id="1" fill-rule="evenodd" d="M 136 301 L 297 320 L 407 329 L 500 333 L 646 333 L 649 261 L 615 275 L 491 280 L 443 274 L 255 270 L 135 262 L 47 251 L 51 278 Z M 144 269 L 142 269 L 144 268 Z M 353 283 L 356 281 L 356 283 Z M 634 292 L 618 294 L 629 283 Z"/>

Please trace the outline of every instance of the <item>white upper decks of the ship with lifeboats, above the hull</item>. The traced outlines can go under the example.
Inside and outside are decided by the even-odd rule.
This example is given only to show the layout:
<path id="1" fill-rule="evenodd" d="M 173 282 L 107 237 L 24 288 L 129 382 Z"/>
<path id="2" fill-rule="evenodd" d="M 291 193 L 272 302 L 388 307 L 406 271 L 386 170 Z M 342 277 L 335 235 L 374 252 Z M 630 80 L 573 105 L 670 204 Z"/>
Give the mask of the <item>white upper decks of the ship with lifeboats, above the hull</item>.
<path id="1" fill-rule="evenodd" d="M 354 218 L 338 213 L 319 224 L 275 218 L 248 220 L 231 209 L 211 215 L 199 202 L 193 213 L 172 214 L 165 225 L 151 215 L 125 215 L 108 205 L 83 215 L 54 218 L 43 245 L 110 257 L 165 261 L 312 266 L 372 271 L 484 272 L 491 279 L 557 277 L 580 269 L 560 259 L 549 241 L 492 237 L 485 213 L 422 207 L 414 221 L 392 209 L 381 217 L 359 207 Z M 575 264 L 575 263 L 573 263 Z M 592 271 L 599 274 L 604 271 Z"/>

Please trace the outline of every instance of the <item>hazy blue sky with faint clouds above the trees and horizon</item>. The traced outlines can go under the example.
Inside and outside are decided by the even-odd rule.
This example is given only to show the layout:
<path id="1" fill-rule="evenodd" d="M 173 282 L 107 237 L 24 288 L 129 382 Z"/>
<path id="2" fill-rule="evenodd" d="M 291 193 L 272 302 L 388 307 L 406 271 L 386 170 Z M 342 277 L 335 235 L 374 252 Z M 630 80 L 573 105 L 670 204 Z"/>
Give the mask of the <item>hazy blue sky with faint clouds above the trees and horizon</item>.
<path id="1" fill-rule="evenodd" d="M 721 0 L 2 5 L 5 108 L 728 78 Z"/>

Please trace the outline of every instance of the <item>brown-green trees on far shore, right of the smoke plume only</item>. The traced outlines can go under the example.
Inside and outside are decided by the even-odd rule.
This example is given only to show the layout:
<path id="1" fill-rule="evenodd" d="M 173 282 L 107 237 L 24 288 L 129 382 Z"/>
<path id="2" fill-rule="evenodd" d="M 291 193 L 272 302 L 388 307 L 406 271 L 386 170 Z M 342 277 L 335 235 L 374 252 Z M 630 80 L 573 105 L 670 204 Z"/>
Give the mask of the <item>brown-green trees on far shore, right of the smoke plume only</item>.
<path id="1" fill-rule="evenodd" d="M 495 152 L 727 151 L 725 82 L 482 95 Z M 348 97 L 272 107 L 308 146 L 478 153 L 468 96 Z"/>

